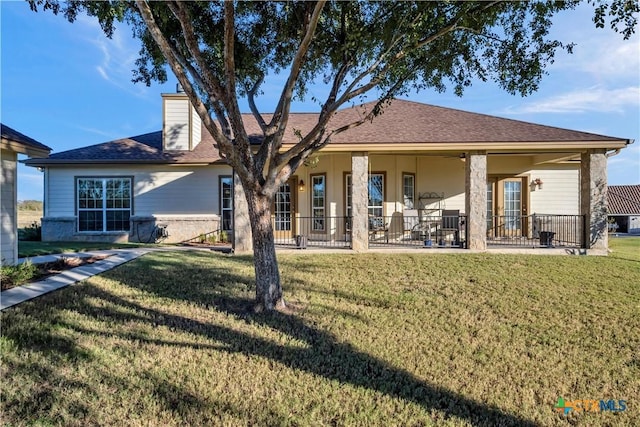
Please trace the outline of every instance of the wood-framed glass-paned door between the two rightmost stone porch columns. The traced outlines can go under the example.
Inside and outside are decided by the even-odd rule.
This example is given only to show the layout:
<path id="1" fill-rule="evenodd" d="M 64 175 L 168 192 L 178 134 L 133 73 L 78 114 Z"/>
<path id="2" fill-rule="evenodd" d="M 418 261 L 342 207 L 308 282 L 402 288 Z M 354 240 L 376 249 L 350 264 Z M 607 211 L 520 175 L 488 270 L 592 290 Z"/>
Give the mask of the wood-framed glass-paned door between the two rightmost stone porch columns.
<path id="1" fill-rule="evenodd" d="M 487 235 L 521 237 L 528 232 L 527 178 L 490 177 L 487 182 Z"/>

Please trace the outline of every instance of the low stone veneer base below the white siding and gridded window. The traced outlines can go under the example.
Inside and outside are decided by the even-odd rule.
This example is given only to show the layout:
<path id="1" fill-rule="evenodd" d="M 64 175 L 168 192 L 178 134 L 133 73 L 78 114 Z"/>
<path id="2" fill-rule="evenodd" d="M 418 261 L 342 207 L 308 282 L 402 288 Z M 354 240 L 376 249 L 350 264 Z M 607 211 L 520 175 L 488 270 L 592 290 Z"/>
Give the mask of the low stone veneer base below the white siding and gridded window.
<path id="1" fill-rule="evenodd" d="M 75 217 L 43 218 L 43 242 L 151 242 L 155 241 L 153 230 L 157 225 L 166 225 L 169 236 L 164 243 L 179 243 L 210 233 L 220 227 L 218 215 L 202 216 L 133 216 L 130 232 L 88 233 L 78 232 Z"/>

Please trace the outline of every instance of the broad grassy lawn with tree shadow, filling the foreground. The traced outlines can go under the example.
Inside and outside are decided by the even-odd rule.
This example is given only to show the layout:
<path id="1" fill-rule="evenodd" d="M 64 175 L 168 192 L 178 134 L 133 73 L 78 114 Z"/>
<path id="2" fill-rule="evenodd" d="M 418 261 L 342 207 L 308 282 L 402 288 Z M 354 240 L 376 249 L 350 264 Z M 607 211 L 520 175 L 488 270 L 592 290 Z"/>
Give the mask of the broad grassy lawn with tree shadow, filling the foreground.
<path id="1" fill-rule="evenodd" d="M 157 252 L 2 313 L 11 425 L 638 425 L 640 263 Z M 558 397 L 628 409 L 568 417 Z"/>

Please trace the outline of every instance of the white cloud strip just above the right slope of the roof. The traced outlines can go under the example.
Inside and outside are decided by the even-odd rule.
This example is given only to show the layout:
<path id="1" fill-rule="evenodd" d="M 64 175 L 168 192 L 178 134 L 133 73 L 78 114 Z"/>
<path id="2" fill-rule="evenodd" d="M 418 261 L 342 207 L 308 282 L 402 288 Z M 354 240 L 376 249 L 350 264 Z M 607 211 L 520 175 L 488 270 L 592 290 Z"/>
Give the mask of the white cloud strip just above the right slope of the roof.
<path id="1" fill-rule="evenodd" d="M 503 114 L 529 113 L 622 113 L 629 107 L 640 105 L 640 86 L 606 89 L 592 86 L 576 89 L 546 99 L 508 107 Z"/>

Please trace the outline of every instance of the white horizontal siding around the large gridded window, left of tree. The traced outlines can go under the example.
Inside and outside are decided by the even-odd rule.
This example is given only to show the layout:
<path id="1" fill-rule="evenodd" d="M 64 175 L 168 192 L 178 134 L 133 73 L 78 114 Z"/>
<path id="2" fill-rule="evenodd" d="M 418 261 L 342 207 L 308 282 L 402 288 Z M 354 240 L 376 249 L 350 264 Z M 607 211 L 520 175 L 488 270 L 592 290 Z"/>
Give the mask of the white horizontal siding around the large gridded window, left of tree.
<path id="1" fill-rule="evenodd" d="M 111 166 L 50 168 L 47 216 L 73 217 L 75 177 L 133 177 L 134 215 L 210 215 L 219 213 L 219 176 L 228 166 Z"/>

